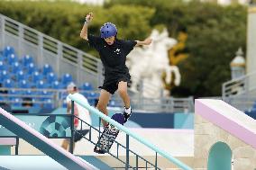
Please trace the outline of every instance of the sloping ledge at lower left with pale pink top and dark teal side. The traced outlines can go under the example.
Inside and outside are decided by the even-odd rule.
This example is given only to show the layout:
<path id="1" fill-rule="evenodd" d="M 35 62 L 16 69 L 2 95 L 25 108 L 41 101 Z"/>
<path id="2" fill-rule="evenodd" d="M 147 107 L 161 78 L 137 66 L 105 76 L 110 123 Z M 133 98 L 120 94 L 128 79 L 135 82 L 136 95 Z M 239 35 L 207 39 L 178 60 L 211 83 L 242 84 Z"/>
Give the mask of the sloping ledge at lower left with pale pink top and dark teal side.
<path id="1" fill-rule="evenodd" d="M 33 130 L 23 121 L 15 118 L 2 108 L 0 108 L 0 124 L 70 170 L 98 170 L 95 166 L 80 160 L 78 157 L 59 147 L 50 141 L 50 139 L 44 137 L 40 132 Z"/>

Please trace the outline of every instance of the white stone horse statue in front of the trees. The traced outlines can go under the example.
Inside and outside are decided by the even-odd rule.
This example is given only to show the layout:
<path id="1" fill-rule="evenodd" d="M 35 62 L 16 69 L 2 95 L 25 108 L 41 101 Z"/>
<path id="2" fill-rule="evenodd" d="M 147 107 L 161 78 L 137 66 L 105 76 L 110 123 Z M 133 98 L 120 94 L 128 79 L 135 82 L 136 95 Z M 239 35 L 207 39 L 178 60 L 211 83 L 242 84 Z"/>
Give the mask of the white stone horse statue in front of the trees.
<path id="1" fill-rule="evenodd" d="M 171 49 L 177 40 L 169 38 L 165 29 L 162 32 L 153 30 L 151 32 L 152 43 L 147 48 L 137 48 L 127 57 L 126 65 L 132 76 L 131 90 L 138 92 L 137 86 L 142 85 L 143 96 L 158 98 L 164 90 L 161 76 L 166 73 L 166 82 L 170 84 L 171 73 L 174 73 L 174 85 L 179 85 L 180 74 L 178 67 L 169 66 L 168 50 Z M 168 93 L 164 93 L 168 94 Z"/>

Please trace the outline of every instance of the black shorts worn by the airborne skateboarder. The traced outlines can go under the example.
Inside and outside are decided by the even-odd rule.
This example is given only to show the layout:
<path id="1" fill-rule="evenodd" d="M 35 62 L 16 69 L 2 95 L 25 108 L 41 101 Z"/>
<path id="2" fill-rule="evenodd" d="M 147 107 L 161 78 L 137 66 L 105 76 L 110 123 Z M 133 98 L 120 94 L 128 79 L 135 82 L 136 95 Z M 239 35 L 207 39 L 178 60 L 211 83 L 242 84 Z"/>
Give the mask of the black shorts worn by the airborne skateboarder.
<path id="1" fill-rule="evenodd" d="M 118 83 L 121 81 L 127 82 L 127 84 L 129 84 L 131 82 L 131 76 L 123 75 L 123 76 L 117 76 L 117 77 L 105 77 L 103 85 L 99 86 L 99 88 L 104 89 L 110 94 L 114 94 L 114 92 L 118 88 Z"/>

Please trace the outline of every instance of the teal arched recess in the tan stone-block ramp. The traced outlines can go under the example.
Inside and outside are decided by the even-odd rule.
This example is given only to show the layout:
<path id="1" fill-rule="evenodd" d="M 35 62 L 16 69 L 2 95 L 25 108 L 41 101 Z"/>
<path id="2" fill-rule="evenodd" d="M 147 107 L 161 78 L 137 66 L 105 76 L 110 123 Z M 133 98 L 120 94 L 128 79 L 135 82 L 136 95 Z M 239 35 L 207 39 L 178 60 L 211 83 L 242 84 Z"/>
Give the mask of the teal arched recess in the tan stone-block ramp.
<path id="1" fill-rule="evenodd" d="M 211 148 L 207 170 L 231 170 L 232 151 L 224 142 L 217 142 Z"/>

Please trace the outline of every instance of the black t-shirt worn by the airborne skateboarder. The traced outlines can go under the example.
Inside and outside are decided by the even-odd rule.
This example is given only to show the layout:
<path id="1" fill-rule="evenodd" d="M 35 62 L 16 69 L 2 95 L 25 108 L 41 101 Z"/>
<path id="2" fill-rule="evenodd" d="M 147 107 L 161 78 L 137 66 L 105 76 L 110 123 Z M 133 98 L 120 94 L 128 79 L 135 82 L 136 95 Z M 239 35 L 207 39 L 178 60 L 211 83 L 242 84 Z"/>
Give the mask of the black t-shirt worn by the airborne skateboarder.
<path id="1" fill-rule="evenodd" d="M 88 35 L 88 43 L 95 48 L 103 66 L 105 76 L 129 75 L 129 70 L 125 66 L 126 56 L 137 44 L 135 40 L 114 40 L 114 44 L 108 45 L 104 39 L 94 35 Z"/>

